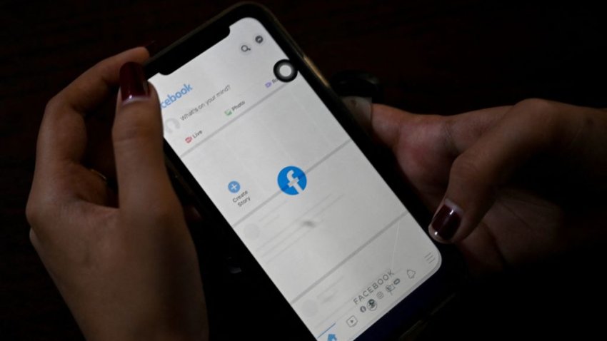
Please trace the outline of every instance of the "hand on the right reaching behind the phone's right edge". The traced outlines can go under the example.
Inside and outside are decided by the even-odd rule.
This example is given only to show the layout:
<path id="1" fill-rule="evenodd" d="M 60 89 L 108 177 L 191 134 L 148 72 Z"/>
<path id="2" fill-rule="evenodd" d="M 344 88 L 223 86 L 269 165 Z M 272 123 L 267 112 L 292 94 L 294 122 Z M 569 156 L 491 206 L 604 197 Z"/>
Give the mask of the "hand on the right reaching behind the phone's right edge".
<path id="1" fill-rule="evenodd" d="M 530 99 L 457 116 L 376 105 L 375 135 L 472 270 L 534 262 L 606 235 L 607 111 Z"/>

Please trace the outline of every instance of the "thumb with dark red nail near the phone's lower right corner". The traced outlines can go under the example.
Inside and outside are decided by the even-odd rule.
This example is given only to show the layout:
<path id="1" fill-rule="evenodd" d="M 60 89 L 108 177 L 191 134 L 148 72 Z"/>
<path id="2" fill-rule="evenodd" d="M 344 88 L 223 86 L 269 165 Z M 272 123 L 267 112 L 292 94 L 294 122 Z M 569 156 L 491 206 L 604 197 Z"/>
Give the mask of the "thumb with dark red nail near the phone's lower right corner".
<path id="1" fill-rule="evenodd" d="M 456 243 L 481 223 L 498 189 L 531 158 L 560 151 L 578 131 L 567 108 L 543 100 L 511 107 L 451 166 L 448 186 L 428 228 L 440 242 Z"/>

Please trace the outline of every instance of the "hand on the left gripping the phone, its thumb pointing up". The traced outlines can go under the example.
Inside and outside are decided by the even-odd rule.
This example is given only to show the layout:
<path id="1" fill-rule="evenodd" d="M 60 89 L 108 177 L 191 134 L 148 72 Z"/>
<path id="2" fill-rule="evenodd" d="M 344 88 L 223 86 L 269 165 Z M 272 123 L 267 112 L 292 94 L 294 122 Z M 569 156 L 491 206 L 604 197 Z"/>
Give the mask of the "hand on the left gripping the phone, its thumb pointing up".
<path id="1" fill-rule="evenodd" d="M 89 69 L 49 101 L 40 128 L 31 242 L 89 340 L 206 335 L 196 251 L 164 166 L 158 96 L 138 64 L 146 58 L 132 49 Z M 87 115 L 118 83 L 113 153 L 95 159 Z M 114 160 L 117 194 L 91 170 L 111 171 Z"/>

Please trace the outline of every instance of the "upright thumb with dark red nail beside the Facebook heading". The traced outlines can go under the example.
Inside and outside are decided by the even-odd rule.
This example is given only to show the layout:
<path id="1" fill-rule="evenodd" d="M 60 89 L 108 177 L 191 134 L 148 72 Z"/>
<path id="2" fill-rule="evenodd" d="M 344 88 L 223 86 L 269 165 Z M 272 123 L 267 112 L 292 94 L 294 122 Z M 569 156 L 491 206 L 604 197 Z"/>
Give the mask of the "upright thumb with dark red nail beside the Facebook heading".
<path id="1" fill-rule="evenodd" d="M 164 165 L 158 95 L 139 63 L 120 69 L 112 128 L 121 207 L 150 210 L 175 197 Z"/>

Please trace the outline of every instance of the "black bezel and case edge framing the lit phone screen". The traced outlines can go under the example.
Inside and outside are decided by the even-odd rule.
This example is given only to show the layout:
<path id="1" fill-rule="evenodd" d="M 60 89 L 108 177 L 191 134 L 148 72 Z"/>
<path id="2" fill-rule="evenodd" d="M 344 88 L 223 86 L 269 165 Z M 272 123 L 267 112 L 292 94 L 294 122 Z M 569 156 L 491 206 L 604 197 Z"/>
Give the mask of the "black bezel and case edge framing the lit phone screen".
<path id="1" fill-rule="evenodd" d="M 427 226 L 431 220 L 431 213 L 424 207 L 406 180 L 403 180 L 403 174 L 398 170 L 393 155 L 386 149 L 378 148 L 371 141 L 367 133 L 358 126 L 358 123 L 348 113 L 338 96 L 331 91 L 326 81 L 323 81 L 323 78 L 321 78 L 315 68 L 308 63 L 306 56 L 299 49 L 299 46 L 286 33 L 279 21 L 263 6 L 254 3 L 243 3 L 226 9 L 226 11 L 211 19 L 211 21 L 199 26 L 199 28 L 190 34 L 179 39 L 179 41 L 176 41 L 176 43 L 151 58 L 144 68 L 146 76 L 149 78 L 161 71 L 163 71 L 163 74 L 170 73 L 175 68 L 178 68 L 180 63 L 182 65 L 184 60 L 191 60 L 191 58 L 206 51 L 214 43 L 224 39 L 226 27 L 229 28 L 235 21 L 246 17 L 257 19 L 264 25 L 301 76 L 306 79 L 318 97 L 321 98 L 321 101 L 323 101 L 336 120 L 351 136 L 356 146 L 361 149 L 363 154 L 376 168 L 379 175 L 381 175 L 388 186 L 411 212 L 413 218 L 421 226 Z M 242 243 L 223 215 L 219 213 L 219 210 L 212 203 L 209 196 L 206 195 L 199 183 L 196 182 L 194 176 L 189 173 L 189 170 L 187 170 L 184 163 L 181 162 L 179 156 L 176 155 L 166 140 L 164 141 L 164 151 L 167 165 L 176 176 L 176 180 L 191 195 L 196 208 L 204 212 L 204 216 L 210 218 L 213 223 L 222 225 L 219 229 L 206 229 L 209 230 L 206 233 L 207 238 L 222 240 L 219 243 L 205 243 L 204 248 L 213 249 L 212 252 L 205 249 L 204 252 L 208 253 L 206 257 L 216 258 L 219 256 L 223 259 L 229 259 L 237 255 L 241 263 L 246 263 L 246 271 L 253 273 L 254 277 L 261 276 L 261 283 L 264 283 L 263 285 L 271 283 L 274 290 L 282 297 L 278 288 L 271 282 L 268 275 L 261 269 L 261 266 L 254 261 L 253 255 L 249 253 L 244 243 Z M 388 340 L 402 335 L 403 332 L 409 330 L 416 322 L 432 315 L 436 307 L 443 305 L 456 292 L 458 287 L 461 286 L 465 278 L 465 270 L 460 255 L 458 255 L 458 252 L 451 245 L 435 244 L 443 260 L 441 268 L 405 299 L 398 302 L 395 307 L 363 332 L 356 340 Z M 243 258 L 246 258 L 246 260 L 243 260 Z M 316 340 L 314 335 L 303 325 L 299 316 L 295 314 L 289 302 L 284 297 L 283 300 L 284 304 L 291 309 L 292 315 L 299 321 L 299 324 L 296 323 L 296 325 L 303 327 L 303 330 L 310 335 L 310 340 Z"/>

